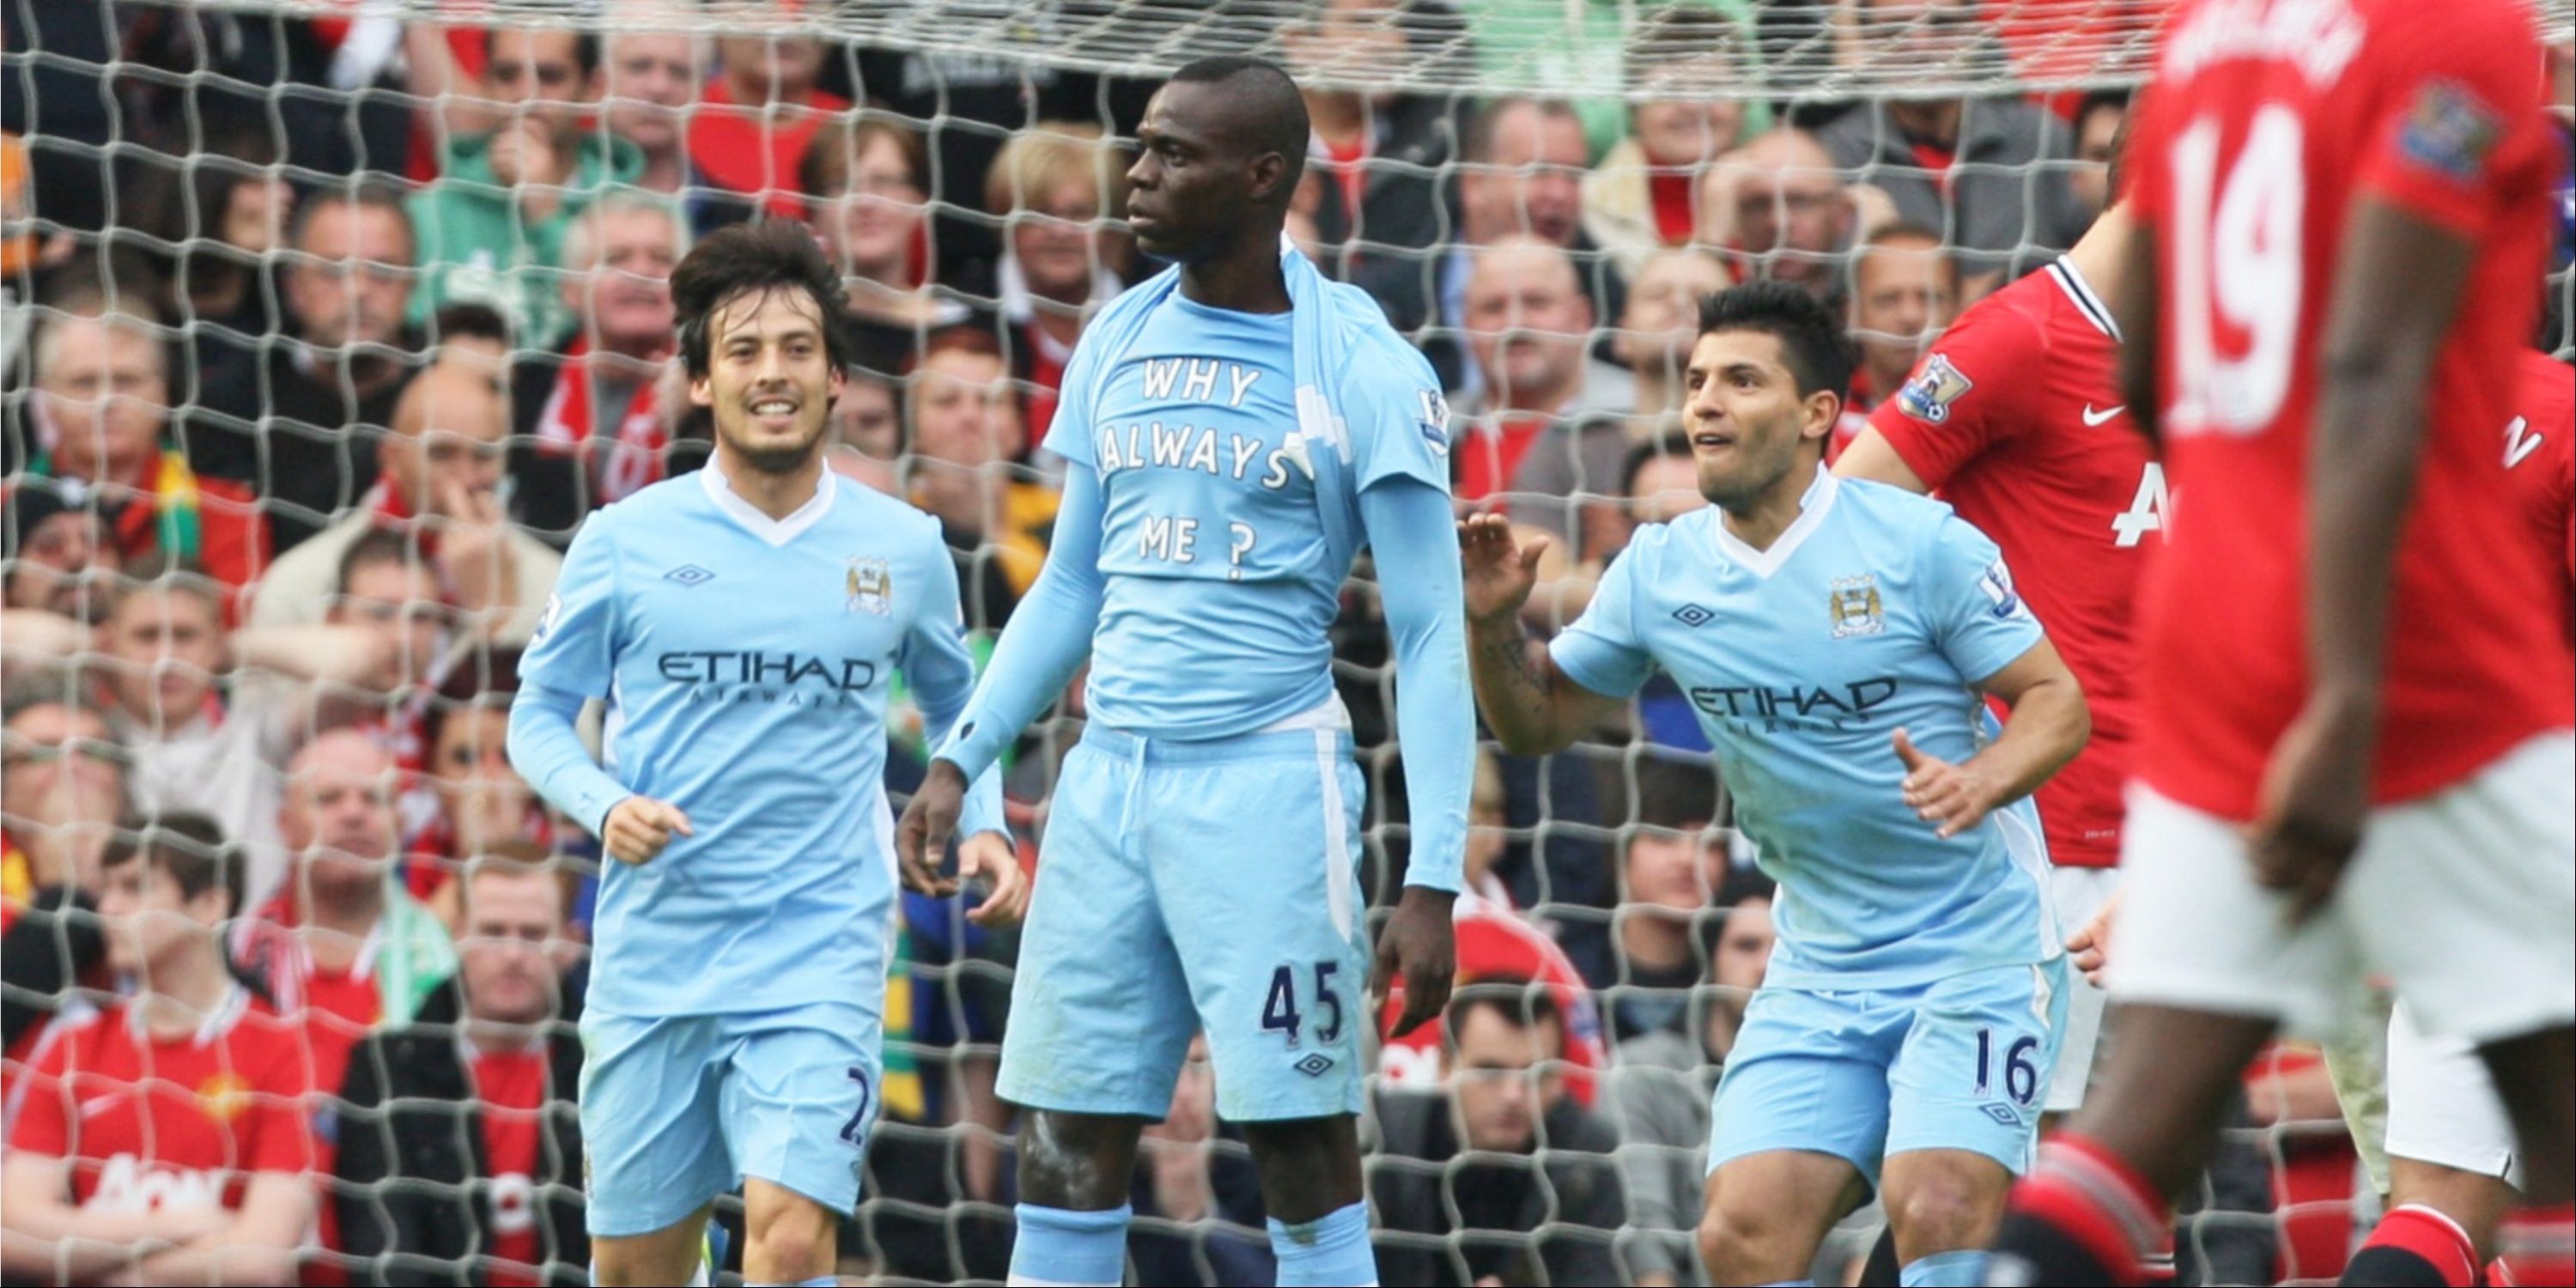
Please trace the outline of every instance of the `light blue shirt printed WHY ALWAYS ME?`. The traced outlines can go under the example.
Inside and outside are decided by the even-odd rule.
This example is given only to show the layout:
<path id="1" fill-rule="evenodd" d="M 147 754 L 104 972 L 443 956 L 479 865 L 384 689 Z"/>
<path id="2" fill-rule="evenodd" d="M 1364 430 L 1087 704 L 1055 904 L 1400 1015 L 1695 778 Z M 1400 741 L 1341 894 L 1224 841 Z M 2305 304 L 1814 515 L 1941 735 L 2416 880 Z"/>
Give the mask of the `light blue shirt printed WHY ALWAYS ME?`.
<path id="1" fill-rule="evenodd" d="M 1296 438 L 1293 314 L 1211 309 L 1172 291 L 1123 353 L 1066 379 L 1048 451 L 1100 479 L 1100 574 L 1090 714 L 1151 737 L 1262 729 L 1332 696 L 1347 567 L 1327 536 L 1306 440 Z M 1079 366 L 1079 363 L 1077 363 Z M 1448 489 L 1448 440 L 1422 417 L 1352 417 L 1342 507 L 1414 477 Z M 1435 415 L 1440 412 L 1440 415 Z M 1419 420 L 1419 422 L 1417 422 Z M 1332 451 L 1314 443 L 1311 451 Z"/>

